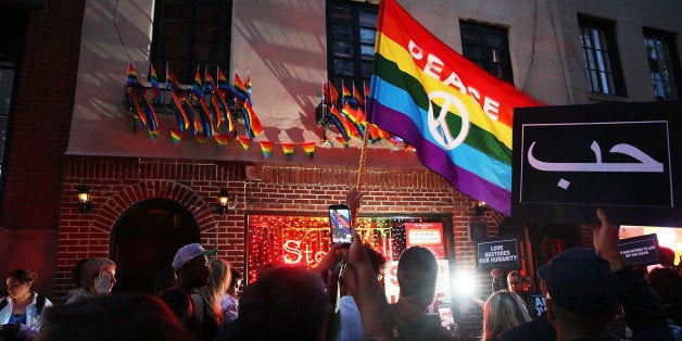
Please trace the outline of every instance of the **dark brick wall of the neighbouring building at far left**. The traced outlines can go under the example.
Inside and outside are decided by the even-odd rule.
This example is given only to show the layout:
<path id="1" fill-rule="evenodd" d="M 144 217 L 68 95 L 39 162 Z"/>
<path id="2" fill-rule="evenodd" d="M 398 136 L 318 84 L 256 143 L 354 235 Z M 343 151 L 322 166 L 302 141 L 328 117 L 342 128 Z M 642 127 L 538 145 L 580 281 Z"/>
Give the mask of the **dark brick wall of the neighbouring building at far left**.
<path id="1" fill-rule="evenodd" d="M 29 14 L 2 207 L 10 229 L 55 230 L 85 1 L 48 1 Z"/>

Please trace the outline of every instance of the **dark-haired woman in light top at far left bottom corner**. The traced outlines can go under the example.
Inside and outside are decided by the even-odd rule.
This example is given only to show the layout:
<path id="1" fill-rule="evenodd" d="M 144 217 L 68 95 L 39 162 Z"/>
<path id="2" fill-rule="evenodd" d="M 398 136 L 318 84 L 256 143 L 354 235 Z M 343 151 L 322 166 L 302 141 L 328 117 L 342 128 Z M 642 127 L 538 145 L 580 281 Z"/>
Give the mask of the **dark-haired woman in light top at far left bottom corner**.
<path id="1" fill-rule="evenodd" d="M 38 275 L 15 269 L 7 279 L 7 298 L 0 300 L 0 340 L 33 340 L 40 330 L 40 313 L 52 302 L 34 291 Z"/>

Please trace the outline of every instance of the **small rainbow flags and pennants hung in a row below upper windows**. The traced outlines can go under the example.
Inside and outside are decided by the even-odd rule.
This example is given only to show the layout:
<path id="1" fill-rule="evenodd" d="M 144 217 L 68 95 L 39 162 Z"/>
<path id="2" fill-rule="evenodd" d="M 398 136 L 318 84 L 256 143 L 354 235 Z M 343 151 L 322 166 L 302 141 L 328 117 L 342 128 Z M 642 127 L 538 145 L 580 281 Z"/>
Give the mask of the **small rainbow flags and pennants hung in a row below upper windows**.
<path id="1" fill-rule="evenodd" d="M 150 87 L 140 84 L 134 64 L 128 64 L 125 86 L 126 101 L 136 124 L 148 129 L 153 142 L 161 130 L 153 104 L 162 103 L 162 91 L 154 65 L 151 65 L 150 79 Z M 206 140 L 213 137 L 218 148 L 224 150 L 229 137 L 235 136 L 244 150 L 249 150 L 254 139 L 263 132 L 263 125 L 253 110 L 251 77 L 247 74 L 247 80 L 242 81 L 239 74 L 235 72 L 235 81 L 230 85 L 225 74 L 216 68 L 216 79 L 217 81 L 207 72 L 207 67 L 204 70 L 204 77 L 202 78 L 198 67 L 191 88 L 185 88 L 166 65 L 165 86 L 166 90 L 171 92 L 171 104 L 177 121 L 177 127 L 169 128 L 171 138 L 174 144 L 178 144 L 186 131 L 190 130 L 200 144 L 205 144 Z M 389 135 L 366 121 L 363 108 L 368 91 L 369 89 L 365 85 L 365 96 L 363 97 L 354 84 L 353 92 L 348 90 L 345 84 L 342 84 L 341 96 L 339 96 L 333 84 L 323 83 L 321 101 L 328 108 L 327 117 L 339 130 L 336 140 L 343 147 L 349 147 L 352 138 L 363 139 L 363 135 L 366 132 L 368 140 L 372 143 L 384 139 L 395 147 L 404 146 L 400 138 Z M 235 101 L 235 110 L 239 110 L 243 114 L 245 136 L 237 135 L 235 117 L 228 105 L 228 101 L 232 100 Z M 326 136 L 321 142 L 333 146 Z M 258 141 L 258 143 L 265 157 L 268 157 L 275 144 L 279 143 L 288 160 L 293 159 L 298 144 L 301 144 L 305 153 L 312 159 L 316 146 L 315 141 L 300 143 Z"/>

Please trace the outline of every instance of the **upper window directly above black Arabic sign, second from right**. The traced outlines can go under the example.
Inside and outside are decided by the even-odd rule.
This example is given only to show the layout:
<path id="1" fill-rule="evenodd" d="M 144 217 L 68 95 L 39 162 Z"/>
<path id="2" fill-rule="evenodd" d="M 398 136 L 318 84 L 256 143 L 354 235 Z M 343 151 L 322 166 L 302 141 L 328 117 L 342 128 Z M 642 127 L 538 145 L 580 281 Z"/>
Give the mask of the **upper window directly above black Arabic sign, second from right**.
<path id="1" fill-rule="evenodd" d="M 590 91 L 626 96 L 614 25 L 589 16 L 578 22 Z"/>

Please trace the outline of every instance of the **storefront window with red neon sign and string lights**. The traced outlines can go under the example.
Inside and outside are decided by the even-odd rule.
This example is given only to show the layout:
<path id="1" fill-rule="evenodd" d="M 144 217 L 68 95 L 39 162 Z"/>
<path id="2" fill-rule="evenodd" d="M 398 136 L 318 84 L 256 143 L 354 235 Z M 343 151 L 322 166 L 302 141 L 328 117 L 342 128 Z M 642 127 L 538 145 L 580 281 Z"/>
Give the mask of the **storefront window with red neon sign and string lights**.
<path id="1" fill-rule="evenodd" d="M 326 216 L 250 215 L 248 235 L 248 280 L 270 264 L 315 266 L 331 243 Z M 388 262 L 397 261 L 403 250 L 421 245 L 437 258 L 454 255 L 452 217 L 363 216 L 356 229 L 365 243 L 383 254 Z"/>

